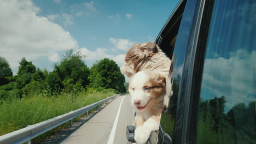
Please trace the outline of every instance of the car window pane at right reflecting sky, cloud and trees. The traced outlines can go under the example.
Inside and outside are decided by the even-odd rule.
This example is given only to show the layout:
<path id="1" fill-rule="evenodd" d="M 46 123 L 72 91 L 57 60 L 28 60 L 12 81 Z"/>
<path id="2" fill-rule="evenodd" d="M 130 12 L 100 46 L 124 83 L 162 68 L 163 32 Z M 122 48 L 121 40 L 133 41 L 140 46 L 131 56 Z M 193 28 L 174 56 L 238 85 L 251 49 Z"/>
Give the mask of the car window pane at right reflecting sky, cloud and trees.
<path id="1" fill-rule="evenodd" d="M 256 2 L 214 2 L 197 143 L 256 143 Z"/>

